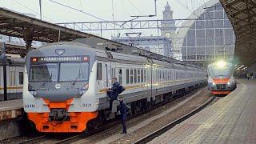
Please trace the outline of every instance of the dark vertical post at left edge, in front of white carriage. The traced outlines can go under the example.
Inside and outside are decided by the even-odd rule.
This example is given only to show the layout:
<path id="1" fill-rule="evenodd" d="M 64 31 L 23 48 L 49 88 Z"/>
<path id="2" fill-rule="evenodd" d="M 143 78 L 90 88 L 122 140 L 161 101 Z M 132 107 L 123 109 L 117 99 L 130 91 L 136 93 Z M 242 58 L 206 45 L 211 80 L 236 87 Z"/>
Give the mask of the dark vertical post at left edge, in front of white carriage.
<path id="1" fill-rule="evenodd" d="M 3 100 L 7 101 L 7 78 L 6 78 L 6 44 L 0 42 L 1 51 L 0 58 L 2 59 L 2 72 L 3 72 Z"/>

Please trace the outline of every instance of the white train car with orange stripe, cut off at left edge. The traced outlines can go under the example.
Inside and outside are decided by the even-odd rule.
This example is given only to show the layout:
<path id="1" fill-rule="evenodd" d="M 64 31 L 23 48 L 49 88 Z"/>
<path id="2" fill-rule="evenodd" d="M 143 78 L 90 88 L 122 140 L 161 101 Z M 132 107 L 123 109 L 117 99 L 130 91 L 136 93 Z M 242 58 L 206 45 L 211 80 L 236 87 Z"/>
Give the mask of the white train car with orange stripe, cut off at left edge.
<path id="1" fill-rule="evenodd" d="M 6 58 L 7 99 L 21 99 L 23 89 L 24 58 Z M 3 66 L 0 61 L 0 101 L 4 100 Z"/>

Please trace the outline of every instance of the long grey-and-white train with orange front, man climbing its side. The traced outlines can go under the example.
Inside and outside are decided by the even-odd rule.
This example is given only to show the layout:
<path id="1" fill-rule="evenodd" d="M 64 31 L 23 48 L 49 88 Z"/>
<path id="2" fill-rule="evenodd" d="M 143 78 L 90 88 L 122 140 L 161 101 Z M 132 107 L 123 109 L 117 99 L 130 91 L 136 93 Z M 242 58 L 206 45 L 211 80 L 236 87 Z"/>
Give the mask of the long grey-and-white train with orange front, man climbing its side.
<path id="1" fill-rule="evenodd" d="M 79 42 L 58 42 L 26 55 L 23 102 L 40 132 L 82 132 L 117 114 L 109 113 L 111 79 L 134 114 L 206 82 L 206 70 L 178 62 L 93 49 Z"/>

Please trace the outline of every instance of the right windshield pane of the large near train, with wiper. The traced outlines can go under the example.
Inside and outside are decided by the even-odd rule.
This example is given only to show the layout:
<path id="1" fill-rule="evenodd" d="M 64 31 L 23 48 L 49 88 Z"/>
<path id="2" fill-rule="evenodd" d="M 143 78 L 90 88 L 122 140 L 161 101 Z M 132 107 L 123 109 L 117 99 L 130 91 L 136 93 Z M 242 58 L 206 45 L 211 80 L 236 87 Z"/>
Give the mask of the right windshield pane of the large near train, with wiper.
<path id="1" fill-rule="evenodd" d="M 89 63 L 87 62 L 61 62 L 60 82 L 88 81 Z"/>

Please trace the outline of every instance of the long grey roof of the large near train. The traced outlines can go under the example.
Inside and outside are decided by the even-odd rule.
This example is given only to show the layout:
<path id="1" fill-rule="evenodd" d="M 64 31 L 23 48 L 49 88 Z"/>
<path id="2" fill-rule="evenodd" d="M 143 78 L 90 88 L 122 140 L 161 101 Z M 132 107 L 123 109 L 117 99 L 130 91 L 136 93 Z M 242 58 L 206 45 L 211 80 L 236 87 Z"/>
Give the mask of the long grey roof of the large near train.
<path id="1" fill-rule="evenodd" d="M 166 65 L 170 65 L 173 64 L 172 66 L 189 66 L 191 68 L 195 68 L 195 69 L 201 69 L 201 70 L 205 70 L 202 67 L 198 67 L 198 66 L 194 66 L 194 65 L 190 65 L 190 64 L 186 64 L 185 62 L 182 61 L 178 61 L 175 60 L 173 58 L 169 58 L 169 57 L 165 57 L 162 56 L 160 54 L 154 54 L 152 52 L 146 51 L 146 50 L 142 50 L 139 48 L 133 48 L 133 50 L 122 50 L 122 48 L 119 49 L 110 49 L 111 46 L 109 46 L 109 44 L 107 43 L 102 43 L 102 42 L 98 42 L 95 39 L 92 40 L 88 40 L 88 38 L 86 39 L 77 39 L 73 42 L 54 42 L 54 43 L 49 43 L 46 44 L 44 46 L 40 46 L 37 50 L 43 50 L 46 49 L 48 46 L 58 46 L 58 45 L 72 45 L 72 46 L 82 46 L 82 47 L 86 47 L 86 49 L 88 50 L 93 50 L 96 52 L 96 54 L 100 54 L 100 55 L 105 55 L 106 56 L 106 51 L 110 52 L 110 54 L 113 56 L 113 58 L 117 58 L 117 57 L 122 57 L 122 58 L 135 58 L 135 59 L 144 59 L 144 61 L 146 60 L 146 58 L 150 58 L 153 60 L 154 63 L 166 63 Z M 33 50 L 34 51 L 34 50 Z M 125 52 L 124 52 L 125 51 Z M 29 55 L 30 53 L 28 53 Z M 157 57 L 156 57 L 157 56 Z"/>

